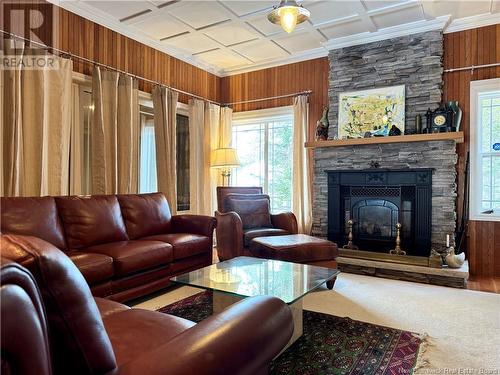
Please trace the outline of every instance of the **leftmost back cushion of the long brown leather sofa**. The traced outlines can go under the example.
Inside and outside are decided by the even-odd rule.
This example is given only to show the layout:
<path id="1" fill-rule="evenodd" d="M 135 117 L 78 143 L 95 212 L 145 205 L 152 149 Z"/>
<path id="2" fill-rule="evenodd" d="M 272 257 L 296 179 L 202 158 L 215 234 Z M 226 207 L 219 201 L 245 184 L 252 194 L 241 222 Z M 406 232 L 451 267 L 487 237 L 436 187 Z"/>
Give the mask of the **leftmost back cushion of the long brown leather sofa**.
<path id="1" fill-rule="evenodd" d="M 0 204 L 2 233 L 35 236 L 66 249 L 53 197 L 1 198 Z"/>

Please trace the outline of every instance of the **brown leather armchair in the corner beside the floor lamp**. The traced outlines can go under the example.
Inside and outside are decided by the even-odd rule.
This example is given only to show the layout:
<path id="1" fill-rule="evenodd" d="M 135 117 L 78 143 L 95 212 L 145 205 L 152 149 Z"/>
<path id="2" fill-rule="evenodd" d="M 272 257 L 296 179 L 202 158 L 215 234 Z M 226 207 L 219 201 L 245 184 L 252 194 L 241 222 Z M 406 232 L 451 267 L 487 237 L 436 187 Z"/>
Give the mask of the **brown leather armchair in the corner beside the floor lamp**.
<path id="1" fill-rule="evenodd" d="M 256 237 L 298 232 L 293 213 L 270 214 L 269 196 L 262 194 L 261 187 L 218 186 L 215 218 L 217 254 L 221 261 L 250 255 L 250 242 Z"/>

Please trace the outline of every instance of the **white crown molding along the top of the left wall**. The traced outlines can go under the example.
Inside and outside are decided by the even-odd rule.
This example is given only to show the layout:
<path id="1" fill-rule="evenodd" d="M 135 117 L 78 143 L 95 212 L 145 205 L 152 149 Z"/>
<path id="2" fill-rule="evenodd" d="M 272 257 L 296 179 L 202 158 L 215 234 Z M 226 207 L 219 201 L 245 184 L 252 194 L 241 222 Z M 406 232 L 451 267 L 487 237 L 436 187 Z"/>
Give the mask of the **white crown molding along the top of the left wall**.
<path id="1" fill-rule="evenodd" d="M 170 47 L 164 43 L 154 40 L 142 33 L 134 32 L 129 28 L 128 25 L 122 24 L 119 21 L 114 21 L 109 18 L 109 15 L 106 15 L 103 12 L 100 12 L 98 9 L 94 7 L 90 7 L 82 2 L 77 2 L 74 0 L 47 0 L 48 2 L 57 5 L 71 13 L 75 13 L 83 18 L 86 18 L 92 22 L 95 22 L 101 26 L 107 27 L 110 30 L 113 30 L 121 35 L 124 35 L 128 38 L 134 39 L 142 44 L 145 44 L 149 47 L 152 47 L 160 52 L 166 53 L 169 56 L 172 56 L 176 59 L 182 60 L 185 63 L 193 65 L 197 68 L 200 68 L 206 72 L 212 73 L 218 77 L 221 77 L 222 69 L 207 64 L 196 56 L 192 56 L 191 54 L 183 53 L 182 51 Z"/>

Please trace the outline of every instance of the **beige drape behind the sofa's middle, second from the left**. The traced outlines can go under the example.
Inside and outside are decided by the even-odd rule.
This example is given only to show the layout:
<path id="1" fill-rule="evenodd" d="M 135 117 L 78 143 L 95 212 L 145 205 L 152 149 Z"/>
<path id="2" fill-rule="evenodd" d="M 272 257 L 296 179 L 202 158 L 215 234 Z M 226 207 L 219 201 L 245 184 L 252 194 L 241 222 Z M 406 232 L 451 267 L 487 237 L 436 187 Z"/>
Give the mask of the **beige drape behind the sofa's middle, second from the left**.
<path id="1" fill-rule="evenodd" d="M 137 81 L 96 67 L 92 98 L 92 194 L 137 193 L 140 130 Z"/>

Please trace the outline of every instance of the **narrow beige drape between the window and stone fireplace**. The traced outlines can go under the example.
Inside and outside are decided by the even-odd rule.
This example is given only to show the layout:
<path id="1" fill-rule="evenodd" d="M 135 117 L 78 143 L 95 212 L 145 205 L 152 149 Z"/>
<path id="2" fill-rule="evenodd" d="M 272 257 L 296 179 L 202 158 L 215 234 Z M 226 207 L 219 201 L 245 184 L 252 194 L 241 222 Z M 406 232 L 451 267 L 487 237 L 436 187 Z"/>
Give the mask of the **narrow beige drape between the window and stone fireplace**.
<path id="1" fill-rule="evenodd" d="M 308 126 L 307 96 L 293 100 L 293 177 L 292 211 L 297 217 L 299 231 L 309 234 L 312 226 L 311 192 L 309 184 L 309 153 L 304 147 Z"/>

